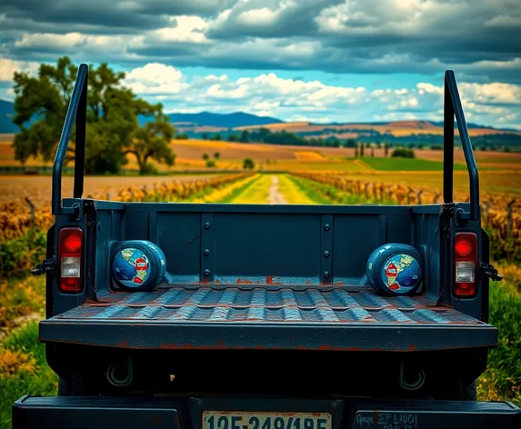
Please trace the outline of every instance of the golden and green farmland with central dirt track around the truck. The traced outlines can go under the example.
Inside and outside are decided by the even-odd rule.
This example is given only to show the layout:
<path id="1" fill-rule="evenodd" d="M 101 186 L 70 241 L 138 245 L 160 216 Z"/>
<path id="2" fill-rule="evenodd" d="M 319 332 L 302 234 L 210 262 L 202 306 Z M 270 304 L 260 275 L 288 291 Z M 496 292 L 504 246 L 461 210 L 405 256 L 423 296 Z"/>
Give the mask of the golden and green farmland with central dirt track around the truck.
<path id="1" fill-rule="evenodd" d="M 0 138 L 2 140 L 2 138 Z M 416 159 L 354 157 L 354 149 L 220 141 L 173 141 L 177 159 L 170 175 L 87 176 L 85 196 L 116 201 L 185 201 L 229 204 L 432 204 L 441 202 L 442 152 L 416 150 Z M 203 155 L 219 153 L 215 168 Z M 253 172 L 242 169 L 245 157 Z M 456 151 L 455 194 L 466 201 L 468 175 Z M 476 152 L 480 189 L 493 250 L 505 281 L 491 285 L 491 323 L 500 328 L 499 347 L 491 352 L 479 380 L 482 399 L 508 398 L 521 404 L 521 155 Z M 43 165 L 33 160 L 29 165 Z M 8 140 L 0 143 L 0 166 L 17 165 Z M 126 168 L 135 168 L 129 159 Z M 241 170 L 240 172 L 238 170 Z M 175 174 L 174 174 L 175 173 Z M 64 177 L 63 194 L 72 195 L 73 179 Z M 37 321 L 44 316 L 45 282 L 27 277 L 43 258 L 45 230 L 52 224 L 48 175 L 0 176 L 0 427 L 9 419 L 10 404 L 25 393 L 55 394 L 55 374 L 45 364 L 37 342 Z M 31 214 L 30 205 L 35 205 Z M 511 209 L 508 222 L 508 207 Z M 485 220 L 485 219 L 484 219 Z"/>

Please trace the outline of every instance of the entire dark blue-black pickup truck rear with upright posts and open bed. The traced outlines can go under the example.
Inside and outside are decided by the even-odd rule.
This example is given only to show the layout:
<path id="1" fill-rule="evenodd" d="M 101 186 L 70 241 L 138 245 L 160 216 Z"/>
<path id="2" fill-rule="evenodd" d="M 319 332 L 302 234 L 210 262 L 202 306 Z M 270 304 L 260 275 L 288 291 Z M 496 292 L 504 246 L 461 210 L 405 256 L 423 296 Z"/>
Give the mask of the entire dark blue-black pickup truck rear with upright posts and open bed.
<path id="1" fill-rule="evenodd" d="M 476 161 L 445 75 L 444 204 L 195 205 L 84 199 L 88 67 L 80 65 L 53 167 L 40 323 L 58 396 L 25 395 L 15 428 L 340 429 L 520 427 L 521 410 L 476 401 L 496 345 Z M 470 201 L 453 201 L 455 116 Z M 75 125 L 73 198 L 62 168 Z M 81 284 L 60 289 L 59 232 L 82 236 Z M 456 295 L 456 233 L 476 236 L 476 293 Z M 122 240 L 157 244 L 168 278 L 128 293 L 111 281 Z M 415 296 L 366 284 L 376 247 L 425 261 Z"/>

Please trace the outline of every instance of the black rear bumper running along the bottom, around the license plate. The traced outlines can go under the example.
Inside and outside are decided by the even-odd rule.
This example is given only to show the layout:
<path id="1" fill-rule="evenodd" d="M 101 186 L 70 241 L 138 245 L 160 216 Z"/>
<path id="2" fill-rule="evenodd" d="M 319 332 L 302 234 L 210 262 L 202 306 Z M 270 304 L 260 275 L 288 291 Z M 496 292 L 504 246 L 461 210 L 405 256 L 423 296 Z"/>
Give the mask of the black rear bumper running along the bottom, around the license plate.
<path id="1" fill-rule="evenodd" d="M 204 429 L 205 410 L 329 413 L 332 429 L 521 427 L 521 409 L 506 402 L 23 396 L 13 404 L 13 429 Z"/>

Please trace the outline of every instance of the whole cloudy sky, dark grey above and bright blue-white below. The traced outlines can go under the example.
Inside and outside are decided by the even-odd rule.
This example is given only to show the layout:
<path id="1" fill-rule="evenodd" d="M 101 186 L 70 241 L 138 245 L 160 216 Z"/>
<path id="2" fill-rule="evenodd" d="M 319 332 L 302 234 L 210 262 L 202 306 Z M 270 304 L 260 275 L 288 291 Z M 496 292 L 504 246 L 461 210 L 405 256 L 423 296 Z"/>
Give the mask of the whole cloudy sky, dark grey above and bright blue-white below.
<path id="1" fill-rule="evenodd" d="M 126 72 L 167 112 L 313 122 L 442 119 L 521 129 L 520 0 L 1 0 L 0 99 L 69 55 Z"/>

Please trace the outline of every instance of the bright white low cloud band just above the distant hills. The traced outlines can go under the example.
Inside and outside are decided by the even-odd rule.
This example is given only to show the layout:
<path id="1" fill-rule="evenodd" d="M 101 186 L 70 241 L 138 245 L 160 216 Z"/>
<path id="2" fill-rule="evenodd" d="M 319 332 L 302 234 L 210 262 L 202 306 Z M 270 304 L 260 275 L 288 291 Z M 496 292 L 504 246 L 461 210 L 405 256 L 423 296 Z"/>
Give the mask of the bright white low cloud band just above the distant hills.
<path id="1" fill-rule="evenodd" d="M 276 73 L 235 79 L 214 74 L 188 77 L 173 66 L 150 63 L 131 70 L 125 84 L 139 95 L 161 101 L 169 112 L 245 111 L 307 122 L 443 118 L 443 86 L 426 82 L 367 91 Z M 521 117 L 519 85 L 463 82 L 459 89 L 466 116 L 473 122 L 511 125 Z"/>

